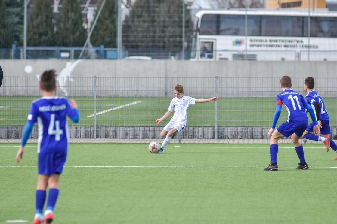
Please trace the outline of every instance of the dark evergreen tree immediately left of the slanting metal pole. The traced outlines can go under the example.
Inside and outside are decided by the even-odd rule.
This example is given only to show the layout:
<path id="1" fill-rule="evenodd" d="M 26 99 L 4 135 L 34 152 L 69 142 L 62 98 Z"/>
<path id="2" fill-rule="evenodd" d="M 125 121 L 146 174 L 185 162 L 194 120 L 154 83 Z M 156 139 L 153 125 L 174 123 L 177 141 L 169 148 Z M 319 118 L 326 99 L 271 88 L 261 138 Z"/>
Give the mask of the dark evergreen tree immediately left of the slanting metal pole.
<path id="1" fill-rule="evenodd" d="M 78 0 L 64 0 L 56 25 L 58 46 L 83 46 L 87 31 L 83 27 L 81 5 Z"/>

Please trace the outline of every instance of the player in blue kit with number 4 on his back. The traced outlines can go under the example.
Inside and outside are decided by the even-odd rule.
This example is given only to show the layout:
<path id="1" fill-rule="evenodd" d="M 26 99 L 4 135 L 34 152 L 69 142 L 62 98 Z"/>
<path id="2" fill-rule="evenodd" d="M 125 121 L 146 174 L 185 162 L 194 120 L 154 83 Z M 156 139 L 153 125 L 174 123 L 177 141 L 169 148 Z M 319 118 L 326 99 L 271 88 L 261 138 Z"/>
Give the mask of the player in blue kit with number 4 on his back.
<path id="1" fill-rule="evenodd" d="M 55 97 L 55 70 L 44 71 L 40 77 L 39 89 L 41 98 L 32 102 L 22 141 L 16 156 L 20 162 L 24 146 L 29 138 L 35 122 L 38 123 L 38 180 L 35 194 L 35 217 L 33 224 L 51 223 L 54 219 L 53 210 L 59 194 L 59 178 L 67 156 L 69 133 L 66 115 L 74 122 L 80 118 L 77 104 L 74 100 Z M 47 205 L 42 216 L 49 187 Z"/>

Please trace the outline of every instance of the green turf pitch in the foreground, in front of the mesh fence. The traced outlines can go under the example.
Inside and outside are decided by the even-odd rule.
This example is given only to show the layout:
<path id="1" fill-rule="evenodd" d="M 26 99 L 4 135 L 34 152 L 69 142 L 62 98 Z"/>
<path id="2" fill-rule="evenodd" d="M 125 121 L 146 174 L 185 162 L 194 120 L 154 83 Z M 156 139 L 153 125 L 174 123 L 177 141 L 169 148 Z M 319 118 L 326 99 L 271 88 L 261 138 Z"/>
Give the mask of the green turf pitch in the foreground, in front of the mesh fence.
<path id="1" fill-rule="evenodd" d="M 0 143 L 0 223 L 32 223 L 36 144 Z M 53 224 L 333 223 L 337 219 L 333 150 L 304 144 L 308 170 L 295 170 L 292 144 L 280 144 L 279 170 L 268 144 L 71 143 Z"/>

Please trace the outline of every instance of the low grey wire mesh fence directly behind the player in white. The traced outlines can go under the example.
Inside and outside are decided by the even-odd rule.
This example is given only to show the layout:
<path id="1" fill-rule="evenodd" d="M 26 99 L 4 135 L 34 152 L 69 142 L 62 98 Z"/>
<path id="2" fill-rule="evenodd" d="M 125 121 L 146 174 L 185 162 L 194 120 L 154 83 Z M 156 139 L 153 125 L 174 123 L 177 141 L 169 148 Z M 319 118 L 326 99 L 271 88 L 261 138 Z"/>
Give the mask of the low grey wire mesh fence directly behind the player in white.
<path id="1" fill-rule="evenodd" d="M 36 77 L 4 77 L 0 88 L 0 139 L 21 138 L 30 104 L 41 96 L 38 82 Z M 79 105 L 80 122 L 69 120 L 70 137 L 78 141 L 160 141 L 159 134 L 170 117 L 159 125 L 154 122 L 167 111 L 174 87 L 180 83 L 185 96 L 220 98 L 188 108 L 187 125 L 179 136 L 182 141 L 268 142 L 276 96 L 282 91 L 279 82 L 279 78 L 59 77 L 56 95 L 74 99 Z M 303 82 L 303 78 L 293 78 L 292 89 L 305 96 Z M 329 113 L 331 137 L 336 139 L 337 79 L 315 78 L 315 83 Z M 277 125 L 286 120 L 283 108 Z M 36 127 L 31 138 L 37 138 Z"/>

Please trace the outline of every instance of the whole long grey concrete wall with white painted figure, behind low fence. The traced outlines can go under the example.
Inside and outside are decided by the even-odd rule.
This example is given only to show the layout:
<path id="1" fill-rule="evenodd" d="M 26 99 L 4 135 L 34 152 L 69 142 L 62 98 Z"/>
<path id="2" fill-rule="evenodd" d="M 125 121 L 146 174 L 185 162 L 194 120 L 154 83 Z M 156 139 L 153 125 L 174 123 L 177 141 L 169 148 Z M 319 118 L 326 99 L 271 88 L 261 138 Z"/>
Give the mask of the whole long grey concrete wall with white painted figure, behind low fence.
<path id="1" fill-rule="evenodd" d="M 0 65 L 4 71 L 2 96 L 39 96 L 36 77 L 47 69 L 60 73 L 58 90 L 64 91 L 57 92 L 60 96 L 65 92 L 69 96 L 93 96 L 94 76 L 98 97 L 148 96 L 145 90 L 149 85 L 153 96 L 162 97 L 177 83 L 188 87 L 191 96 L 198 97 L 203 90 L 200 97 L 212 97 L 215 76 L 219 78 L 219 97 L 225 91 L 228 97 L 247 97 L 252 91 L 258 91 L 259 97 L 268 97 L 270 90 L 279 89 L 279 78 L 284 75 L 293 78 L 293 89 L 297 91 L 303 90 L 303 79 L 309 76 L 330 78 L 325 81 L 329 86 L 319 81 L 321 86 L 315 86 L 317 91 L 321 91 L 320 87 L 337 85 L 336 80 L 331 80 L 337 77 L 337 62 L 332 61 L 0 60 Z M 70 82 L 69 77 L 74 81 Z M 325 97 L 335 97 L 333 92 L 328 94 Z"/>

